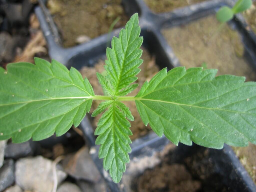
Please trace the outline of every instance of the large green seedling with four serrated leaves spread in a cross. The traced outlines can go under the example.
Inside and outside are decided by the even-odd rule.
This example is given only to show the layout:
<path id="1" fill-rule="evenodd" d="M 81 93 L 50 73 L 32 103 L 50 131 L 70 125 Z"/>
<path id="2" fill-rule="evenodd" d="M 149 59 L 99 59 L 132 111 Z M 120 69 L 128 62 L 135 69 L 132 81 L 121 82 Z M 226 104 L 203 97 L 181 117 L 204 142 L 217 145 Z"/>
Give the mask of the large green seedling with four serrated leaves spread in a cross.
<path id="1" fill-rule="evenodd" d="M 216 69 L 164 68 L 146 81 L 135 97 L 125 96 L 137 88 L 143 38 L 139 37 L 138 14 L 134 14 L 113 37 L 106 49 L 106 77 L 97 73 L 108 95 L 94 95 L 88 79 L 61 63 L 35 58 L 31 63 L 10 63 L 0 68 L 0 139 L 15 143 L 31 137 L 38 141 L 56 133 L 60 136 L 71 125 L 78 126 L 93 100 L 103 100 L 92 113 L 105 111 L 98 122 L 96 144 L 99 158 L 115 183 L 129 162 L 130 123 L 134 118 L 122 101 L 135 101 L 145 125 L 163 134 L 175 145 L 220 149 L 223 143 L 247 146 L 256 144 L 256 82 L 244 77 L 216 76 Z M 86 162 L 85 162 L 86 163 Z"/>

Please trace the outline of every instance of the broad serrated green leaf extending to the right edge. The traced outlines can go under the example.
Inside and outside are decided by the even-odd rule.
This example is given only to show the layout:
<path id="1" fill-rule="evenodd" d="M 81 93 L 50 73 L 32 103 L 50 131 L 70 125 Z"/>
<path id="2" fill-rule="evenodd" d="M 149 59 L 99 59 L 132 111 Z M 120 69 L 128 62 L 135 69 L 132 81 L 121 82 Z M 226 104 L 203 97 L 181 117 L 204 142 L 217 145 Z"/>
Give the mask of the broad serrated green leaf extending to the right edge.
<path id="1" fill-rule="evenodd" d="M 136 95 L 144 124 L 176 145 L 256 144 L 256 82 L 216 73 L 185 67 L 159 71 Z"/>

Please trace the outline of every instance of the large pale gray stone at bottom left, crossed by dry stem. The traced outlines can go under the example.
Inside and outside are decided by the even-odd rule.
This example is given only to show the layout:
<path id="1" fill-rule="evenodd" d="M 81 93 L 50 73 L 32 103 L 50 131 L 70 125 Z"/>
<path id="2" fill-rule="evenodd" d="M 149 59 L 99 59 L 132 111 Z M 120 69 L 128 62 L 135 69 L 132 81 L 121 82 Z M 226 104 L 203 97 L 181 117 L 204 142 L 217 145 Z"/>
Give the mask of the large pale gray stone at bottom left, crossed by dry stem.
<path id="1" fill-rule="evenodd" d="M 21 158 L 15 165 L 16 183 L 24 190 L 37 192 L 51 191 L 54 184 L 53 170 L 54 163 L 42 156 L 33 158 Z M 57 166 L 58 184 L 60 184 L 67 174 Z"/>

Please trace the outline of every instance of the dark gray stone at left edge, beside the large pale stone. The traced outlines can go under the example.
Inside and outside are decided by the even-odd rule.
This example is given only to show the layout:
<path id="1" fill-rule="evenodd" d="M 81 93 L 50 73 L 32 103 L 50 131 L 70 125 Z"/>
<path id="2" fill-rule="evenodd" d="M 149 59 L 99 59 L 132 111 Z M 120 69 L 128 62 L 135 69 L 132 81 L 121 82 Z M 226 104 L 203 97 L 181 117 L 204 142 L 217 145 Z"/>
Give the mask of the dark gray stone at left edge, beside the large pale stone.
<path id="1" fill-rule="evenodd" d="M 14 182 L 14 161 L 5 160 L 4 165 L 0 168 L 0 191 L 3 191 Z"/>

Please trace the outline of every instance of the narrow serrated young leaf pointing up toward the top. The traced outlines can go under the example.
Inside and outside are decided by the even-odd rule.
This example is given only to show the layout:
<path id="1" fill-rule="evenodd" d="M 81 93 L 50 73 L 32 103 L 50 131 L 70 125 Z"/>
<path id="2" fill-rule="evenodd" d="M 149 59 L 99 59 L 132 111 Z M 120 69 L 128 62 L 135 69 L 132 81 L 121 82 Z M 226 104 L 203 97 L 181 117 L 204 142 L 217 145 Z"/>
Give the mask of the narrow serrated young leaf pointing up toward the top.
<path id="1" fill-rule="evenodd" d="M 106 50 L 108 60 L 104 67 L 107 71 L 106 79 L 113 87 L 112 95 L 118 95 L 122 89 L 127 89 L 127 86 L 137 80 L 135 76 L 140 72 L 138 67 L 143 62 L 139 59 L 142 55 L 139 47 L 143 42 L 143 37 L 139 37 L 140 31 L 138 14 L 135 13 L 125 29 L 121 29 L 119 38 L 113 37 L 112 49 Z"/>

